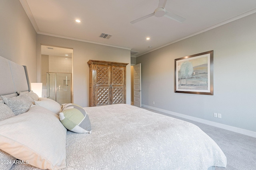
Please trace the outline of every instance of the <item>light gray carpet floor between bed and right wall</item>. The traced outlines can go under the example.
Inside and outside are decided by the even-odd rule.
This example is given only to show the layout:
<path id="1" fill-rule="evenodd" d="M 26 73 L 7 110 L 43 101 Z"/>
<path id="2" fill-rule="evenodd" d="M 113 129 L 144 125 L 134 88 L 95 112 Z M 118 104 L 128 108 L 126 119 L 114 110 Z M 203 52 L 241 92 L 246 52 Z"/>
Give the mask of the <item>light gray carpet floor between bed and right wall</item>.
<path id="1" fill-rule="evenodd" d="M 160 111 L 145 107 L 142 108 L 155 113 L 168 115 Z M 182 117 L 172 115 L 168 116 L 182 119 L 197 125 L 219 145 L 220 149 L 222 149 L 227 157 L 227 167 L 216 167 L 215 170 L 256 170 L 256 138 L 206 125 L 204 123 L 191 121 Z"/>

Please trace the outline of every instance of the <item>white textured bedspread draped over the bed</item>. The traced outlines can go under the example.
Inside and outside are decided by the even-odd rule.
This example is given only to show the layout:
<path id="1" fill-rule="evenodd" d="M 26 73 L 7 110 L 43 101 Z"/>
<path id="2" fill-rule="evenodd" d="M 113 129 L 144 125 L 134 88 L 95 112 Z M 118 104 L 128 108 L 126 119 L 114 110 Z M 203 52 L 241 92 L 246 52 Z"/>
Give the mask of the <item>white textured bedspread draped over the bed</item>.
<path id="1" fill-rule="evenodd" d="M 67 132 L 65 170 L 226 167 L 222 150 L 192 123 L 127 104 L 84 109 L 90 117 L 92 133 Z M 35 167 L 14 164 L 12 169 Z"/>

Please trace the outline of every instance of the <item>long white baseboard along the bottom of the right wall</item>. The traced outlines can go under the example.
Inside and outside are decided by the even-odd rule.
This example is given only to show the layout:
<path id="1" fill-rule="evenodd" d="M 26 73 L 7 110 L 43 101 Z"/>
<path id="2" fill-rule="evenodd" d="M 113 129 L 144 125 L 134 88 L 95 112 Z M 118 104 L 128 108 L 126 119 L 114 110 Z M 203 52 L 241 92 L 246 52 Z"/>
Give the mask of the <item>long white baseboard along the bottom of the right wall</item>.
<path id="1" fill-rule="evenodd" d="M 168 115 L 174 115 L 174 116 L 182 117 L 182 118 L 189 119 L 189 120 L 192 120 L 192 121 L 197 121 L 197 122 L 200 122 L 200 123 L 204 123 L 206 125 L 219 127 L 219 128 L 222 128 L 222 129 L 232 131 L 232 132 L 236 132 L 236 133 L 240 133 L 240 134 L 243 134 L 243 135 L 247 135 L 247 136 L 256 138 L 256 132 L 254 132 L 254 131 L 248 131 L 246 129 L 240 129 L 238 127 L 224 125 L 224 124 L 217 123 L 217 122 L 214 122 L 214 121 L 208 121 L 208 120 L 205 120 L 205 119 L 200 119 L 200 118 L 197 118 L 197 117 L 192 117 L 192 116 L 184 115 L 184 114 L 181 114 L 181 113 L 176 113 L 176 112 L 173 112 L 173 111 L 159 109 L 157 107 L 152 107 L 152 106 L 147 106 L 147 105 L 142 105 L 142 107 L 146 107 L 148 109 L 153 109 L 153 110 L 156 110 L 156 111 L 161 111 L 161 112 L 166 113 Z"/>

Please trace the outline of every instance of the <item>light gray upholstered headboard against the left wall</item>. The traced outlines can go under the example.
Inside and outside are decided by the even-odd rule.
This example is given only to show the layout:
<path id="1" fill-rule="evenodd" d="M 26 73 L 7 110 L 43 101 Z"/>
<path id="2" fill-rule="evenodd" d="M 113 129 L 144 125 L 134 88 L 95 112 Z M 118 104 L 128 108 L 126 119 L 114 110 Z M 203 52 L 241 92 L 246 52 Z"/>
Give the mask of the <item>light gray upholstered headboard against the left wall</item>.
<path id="1" fill-rule="evenodd" d="M 25 91 L 30 91 L 27 67 L 0 56 L 0 96 L 14 97 Z"/>

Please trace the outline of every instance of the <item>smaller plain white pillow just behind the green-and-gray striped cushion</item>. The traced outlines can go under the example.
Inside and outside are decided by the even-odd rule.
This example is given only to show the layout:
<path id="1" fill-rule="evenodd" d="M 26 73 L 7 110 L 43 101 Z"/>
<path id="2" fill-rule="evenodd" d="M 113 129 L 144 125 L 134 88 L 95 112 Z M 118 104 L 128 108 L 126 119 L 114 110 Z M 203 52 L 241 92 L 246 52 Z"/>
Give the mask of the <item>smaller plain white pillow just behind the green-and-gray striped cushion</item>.
<path id="1" fill-rule="evenodd" d="M 52 99 L 40 98 L 38 101 L 34 101 L 34 102 L 35 102 L 35 105 L 42 106 L 56 114 L 60 113 L 61 111 L 60 104 L 58 104 L 58 102 L 55 102 Z"/>

